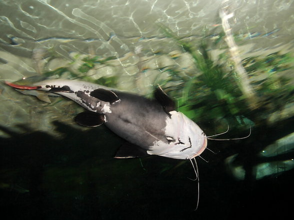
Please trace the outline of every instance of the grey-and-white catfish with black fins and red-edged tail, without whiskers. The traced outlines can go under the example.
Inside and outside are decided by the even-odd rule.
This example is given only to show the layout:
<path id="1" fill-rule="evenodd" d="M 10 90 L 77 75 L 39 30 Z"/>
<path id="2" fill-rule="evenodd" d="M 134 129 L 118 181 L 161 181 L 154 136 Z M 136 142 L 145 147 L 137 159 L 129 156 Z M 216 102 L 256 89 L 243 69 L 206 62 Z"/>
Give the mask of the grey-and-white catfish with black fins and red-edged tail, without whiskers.
<path id="1" fill-rule="evenodd" d="M 157 88 L 155 99 L 78 80 L 44 80 L 29 86 L 6 82 L 17 89 L 38 90 L 69 98 L 87 111 L 78 114 L 78 124 L 101 124 L 125 139 L 115 158 L 158 155 L 192 159 L 206 148 L 207 138 L 199 126 L 175 110 L 172 100 Z"/>

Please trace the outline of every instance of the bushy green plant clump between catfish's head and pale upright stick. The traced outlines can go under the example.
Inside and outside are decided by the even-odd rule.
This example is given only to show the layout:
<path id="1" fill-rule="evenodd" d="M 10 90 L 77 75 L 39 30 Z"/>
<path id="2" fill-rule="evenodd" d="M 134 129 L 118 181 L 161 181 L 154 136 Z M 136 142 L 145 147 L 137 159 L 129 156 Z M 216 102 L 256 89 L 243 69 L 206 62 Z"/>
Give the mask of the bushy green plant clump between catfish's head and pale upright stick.
<path id="1" fill-rule="evenodd" d="M 225 72 L 223 64 L 211 59 L 205 40 L 195 46 L 174 36 L 166 27 L 163 29 L 167 36 L 172 37 L 192 56 L 195 68 L 199 71 L 192 77 L 181 78 L 182 87 L 178 88 L 176 95 L 179 110 L 194 120 L 211 120 L 240 114 L 244 103 L 234 75 Z"/>

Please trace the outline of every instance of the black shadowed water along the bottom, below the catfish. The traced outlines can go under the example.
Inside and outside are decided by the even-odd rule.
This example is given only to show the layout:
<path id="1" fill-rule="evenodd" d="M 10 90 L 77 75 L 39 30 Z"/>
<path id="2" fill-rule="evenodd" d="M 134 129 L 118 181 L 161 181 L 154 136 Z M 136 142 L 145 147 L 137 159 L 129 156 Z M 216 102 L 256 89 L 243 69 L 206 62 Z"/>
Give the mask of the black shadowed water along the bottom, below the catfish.
<path id="1" fill-rule="evenodd" d="M 197 182 L 189 161 L 159 156 L 114 159 L 123 140 L 104 126 L 81 132 L 55 121 L 62 138 L 42 132 L 1 138 L 1 216 L 3 219 L 43 220 L 228 220 L 291 217 L 293 170 L 255 180 L 254 165 L 286 160 L 257 156 L 267 143 L 293 132 L 292 118 L 278 127 L 252 128 L 249 138 L 208 141 L 209 151 L 197 158 Z M 261 144 L 262 143 L 262 144 Z M 237 181 L 224 160 L 246 170 Z M 5 183 L 5 184 L 3 184 Z M 2 218 L 1 218 L 2 219 Z"/>

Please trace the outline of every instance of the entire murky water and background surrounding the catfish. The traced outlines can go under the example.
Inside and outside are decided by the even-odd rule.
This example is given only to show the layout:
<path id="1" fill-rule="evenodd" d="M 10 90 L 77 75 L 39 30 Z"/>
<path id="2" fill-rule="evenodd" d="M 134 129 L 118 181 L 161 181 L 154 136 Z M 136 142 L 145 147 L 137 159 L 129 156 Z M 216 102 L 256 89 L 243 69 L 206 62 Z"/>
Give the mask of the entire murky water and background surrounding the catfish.
<path id="1" fill-rule="evenodd" d="M 189 161 L 114 159 L 124 140 L 76 125 L 81 107 L 1 83 L 4 219 L 288 217 L 293 11 L 287 0 L 1 0 L 2 82 L 79 79 L 146 97 L 159 84 L 207 136 L 251 129 L 208 140 L 193 212 Z"/>

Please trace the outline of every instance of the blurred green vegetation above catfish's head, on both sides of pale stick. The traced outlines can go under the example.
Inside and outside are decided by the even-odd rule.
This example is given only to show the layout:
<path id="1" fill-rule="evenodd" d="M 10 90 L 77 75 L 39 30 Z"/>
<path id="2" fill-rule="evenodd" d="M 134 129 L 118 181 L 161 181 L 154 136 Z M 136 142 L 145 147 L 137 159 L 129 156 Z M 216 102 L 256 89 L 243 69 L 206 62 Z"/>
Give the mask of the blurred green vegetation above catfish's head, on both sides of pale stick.
<path id="1" fill-rule="evenodd" d="M 190 77 L 170 71 L 171 81 L 182 82 L 171 94 L 178 100 L 179 111 L 187 117 L 206 122 L 226 118 L 233 124 L 230 124 L 230 127 L 242 124 L 253 126 L 253 118 L 262 120 L 262 115 L 278 111 L 292 100 L 294 87 L 284 75 L 278 74 L 292 68 L 292 54 L 276 52 L 265 57 L 255 56 L 242 60 L 249 77 L 265 74 L 261 79 L 256 78 L 259 81 L 251 81 L 250 86 L 257 93 L 258 105 L 261 106 L 258 111 L 253 111 L 242 93 L 239 84 L 241 79 L 232 68 L 228 52 L 219 54 L 216 59 L 210 56 L 211 48 L 215 48 L 223 40 L 223 34 L 217 34 L 218 37 L 214 39 L 202 38 L 200 43 L 194 43 L 175 36 L 165 26 L 161 26 L 161 29 L 184 52 L 191 55 L 197 70 L 194 76 Z M 275 105 L 268 105 L 269 100 L 274 101 Z M 260 114 L 260 111 L 263 113 Z M 240 117 L 244 120 L 239 120 Z"/>

